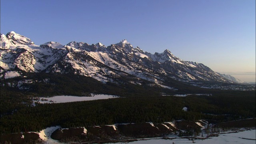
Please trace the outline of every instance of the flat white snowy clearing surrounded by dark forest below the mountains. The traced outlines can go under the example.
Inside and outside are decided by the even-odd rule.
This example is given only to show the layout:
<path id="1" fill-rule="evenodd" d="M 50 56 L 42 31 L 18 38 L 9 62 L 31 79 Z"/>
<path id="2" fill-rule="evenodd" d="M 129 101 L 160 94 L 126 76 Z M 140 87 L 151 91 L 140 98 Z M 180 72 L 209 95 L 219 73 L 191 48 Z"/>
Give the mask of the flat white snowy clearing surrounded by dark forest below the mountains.
<path id="1" fill-rule="evenodd" d="M 119 96 L 106 95 L 106 94 L 96 94 L 92 96 L 54 96 L 54 97 L 40 97 L 39 101 L 34 100 L 34 102 L 43 103 L 62 103 L 62 102 L 79 102 L 87 100 L 101 100 L 108 98 L 119 98 Z M 44 99 L 42 101 L 42 99 Z"/>

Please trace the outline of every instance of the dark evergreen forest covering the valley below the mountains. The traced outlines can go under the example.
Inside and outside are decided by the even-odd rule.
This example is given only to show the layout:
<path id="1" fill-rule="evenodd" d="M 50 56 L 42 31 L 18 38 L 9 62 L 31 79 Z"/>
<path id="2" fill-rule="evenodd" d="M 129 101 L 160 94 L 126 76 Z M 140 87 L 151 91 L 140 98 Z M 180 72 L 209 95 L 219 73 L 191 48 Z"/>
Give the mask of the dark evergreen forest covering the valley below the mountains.
<path id="1" fill-rule="evenodd" d="M 183 85 L 175 93 L 205 93 L 212 95 L 172 95 L 173 90 L 160 87 L 113 83 L 102 84 L 92 78 L 66 75 L 47 75 L 51 82 L 40 83 L 44 75 L 28 76 L 38 81 L 28 85 L 30 90 L 1 86 L 1 134 L 42 130 L 49 126 L 63 128 L 116 123 L 168 122 L 172 120 L 217 121 L 255 118 L 255 91 L 210 90 Z M 7 79 L 8 82 L 18 78 Z M 54 83 L 54 84 L 53 84 Z M 175 84 L 182 86 L 176 82 Z M 196 89 L 194 89 L 196 88 Z M 86 93 L 105 93 L 121 96 L 108 100 L 37 104 L 36 96 L 58 94 L 82 96 Z M 188 112 L 182 110 L 187 107 Z"/>

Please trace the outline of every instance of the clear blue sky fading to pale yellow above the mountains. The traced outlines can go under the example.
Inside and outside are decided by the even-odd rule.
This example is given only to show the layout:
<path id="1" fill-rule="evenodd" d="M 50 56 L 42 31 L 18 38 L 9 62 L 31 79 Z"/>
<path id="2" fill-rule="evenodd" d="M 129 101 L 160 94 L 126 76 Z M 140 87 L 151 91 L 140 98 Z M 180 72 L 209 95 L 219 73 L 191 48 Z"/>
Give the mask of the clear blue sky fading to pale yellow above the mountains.
<path id="1" fill-rule="evenodd" d="M 216 72 L 256 71 L 255 0 L 1 0 L 1 33 L 40 45 L 127 39 Z M 242 79 L 242 78 L 241 78 Z M 246 81 L 254 81 L 254 78 Z"/>

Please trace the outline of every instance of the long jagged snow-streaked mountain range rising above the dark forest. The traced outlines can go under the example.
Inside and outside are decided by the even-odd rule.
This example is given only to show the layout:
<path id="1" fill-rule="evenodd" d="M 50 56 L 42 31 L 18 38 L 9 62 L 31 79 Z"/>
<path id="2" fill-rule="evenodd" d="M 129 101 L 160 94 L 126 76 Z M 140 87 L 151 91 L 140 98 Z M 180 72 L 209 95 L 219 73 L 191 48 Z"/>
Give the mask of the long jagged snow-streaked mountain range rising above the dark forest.
<path id="1" fill-rule="evenodd" d="M 122 40 L 104 46 L 84 42 L 58 42 L 35 45 L 29 38 L 9 32 L 1 34 L 1 78 L 5 72 L 52 72 L 90 76 L 101 82 L 114 82 L 117 77 L 130 77 L 133 84 L 148 80 L 157 86 L 168 86 L 170 79 L 182 82 L 236 82 L 212 71 L 204 64 L 188 62 L 169 50 L 150 54 Z"/>

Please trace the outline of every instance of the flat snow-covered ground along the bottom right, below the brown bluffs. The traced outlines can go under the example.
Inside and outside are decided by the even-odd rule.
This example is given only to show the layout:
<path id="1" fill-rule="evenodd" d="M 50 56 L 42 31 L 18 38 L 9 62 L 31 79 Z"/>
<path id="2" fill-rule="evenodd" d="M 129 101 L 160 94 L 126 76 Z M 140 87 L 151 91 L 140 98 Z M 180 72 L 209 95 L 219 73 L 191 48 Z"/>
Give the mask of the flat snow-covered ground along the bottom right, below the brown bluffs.
<path id="1" fill-rule="evenodd" d="M 174 138 L 174 137 L 170 137 Z M 244 139 L 247 138 L 247 139 Z M 251 139 L 251 140 L 249 140 Z M 194 140 L 196 144 L 255 144 L 256 143 L 256 130 L 246 130 L 243 132 L 220 134 L 218 137 L 211 137 L 205 140 Z M 187 138 L 175 138 L 173 140 L 164 140 L 152 138 L 150 140 L 138 140 L 134 142 L 128 142 L 126 144 L 185 144 L 191 143 L 192 140 Z M 119 144 L 119 143 L 114 143 Z"/>

